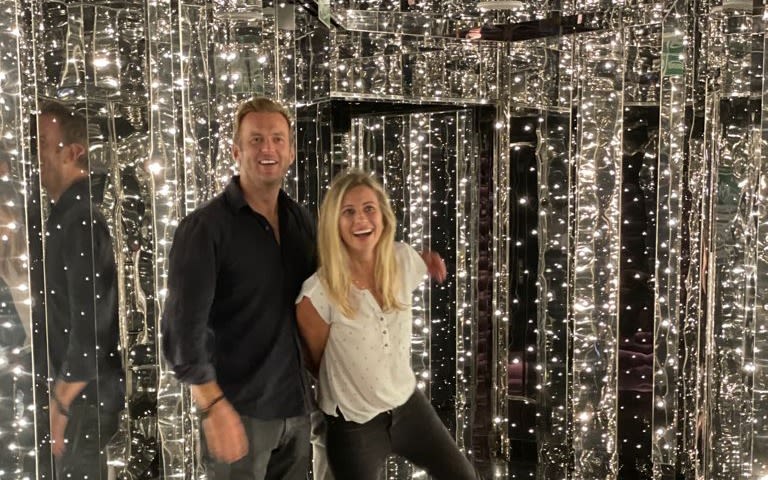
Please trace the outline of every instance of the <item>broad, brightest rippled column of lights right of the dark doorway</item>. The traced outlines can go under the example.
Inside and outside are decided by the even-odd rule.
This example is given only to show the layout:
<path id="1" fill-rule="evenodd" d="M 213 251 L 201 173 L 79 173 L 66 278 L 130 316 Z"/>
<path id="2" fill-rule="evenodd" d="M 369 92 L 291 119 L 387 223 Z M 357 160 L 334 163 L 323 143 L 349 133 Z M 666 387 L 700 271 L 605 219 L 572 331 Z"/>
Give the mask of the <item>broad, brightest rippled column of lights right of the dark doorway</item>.
<path id="1" fill-rule="evenodd" d="M 616 25 L 619 27 L 619 25 Z M 573 276 L 575 478 L 618 474 L 618 298 L 621 250 L 623 37 L 579 45 Z"/>

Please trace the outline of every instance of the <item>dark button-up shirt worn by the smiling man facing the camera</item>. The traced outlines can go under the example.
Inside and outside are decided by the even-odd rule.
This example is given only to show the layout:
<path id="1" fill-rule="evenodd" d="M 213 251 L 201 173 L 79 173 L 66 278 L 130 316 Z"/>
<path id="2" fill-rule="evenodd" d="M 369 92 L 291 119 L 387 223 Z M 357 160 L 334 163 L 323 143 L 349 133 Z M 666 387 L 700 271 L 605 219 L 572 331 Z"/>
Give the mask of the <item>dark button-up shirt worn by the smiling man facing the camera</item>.
<path id="1" fill-rule="evenodd" d="M 294 301 L 314 273 L 315 225 L 281 191 L 280 242 L 239 177 L 185 217 L 171 247 L 163 352 L 178 379 L 216 381 L 241 415 L 308 411 Z"/>

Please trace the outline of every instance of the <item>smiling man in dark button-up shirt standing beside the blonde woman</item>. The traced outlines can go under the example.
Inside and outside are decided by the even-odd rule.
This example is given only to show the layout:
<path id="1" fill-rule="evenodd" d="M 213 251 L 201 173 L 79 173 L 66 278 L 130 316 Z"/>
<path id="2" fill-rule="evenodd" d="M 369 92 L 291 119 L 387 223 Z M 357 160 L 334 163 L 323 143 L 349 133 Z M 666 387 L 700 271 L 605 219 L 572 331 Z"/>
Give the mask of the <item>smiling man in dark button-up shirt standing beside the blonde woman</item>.
<path id="1" fill-rule="evenodd" d="M 235 115 L 240 174 L 179 224 L 163 351 L 201 412 L 209 479 L 304 479 L 309 403 L 294 301 L 315 270 L 315 227 L 281 189 L 290 117 L 254 98 Z"/>

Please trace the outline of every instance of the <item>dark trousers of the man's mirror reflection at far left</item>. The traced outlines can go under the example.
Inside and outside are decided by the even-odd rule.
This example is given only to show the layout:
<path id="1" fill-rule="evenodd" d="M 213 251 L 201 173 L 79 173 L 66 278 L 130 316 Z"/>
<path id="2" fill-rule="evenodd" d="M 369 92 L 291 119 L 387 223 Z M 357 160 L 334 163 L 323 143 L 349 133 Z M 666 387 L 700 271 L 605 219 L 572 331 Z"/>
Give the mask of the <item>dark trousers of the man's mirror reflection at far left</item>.
<path id="1" fill-rule="evenodd" d="M 120 412 L 72 405 L 64 431 L 66 449 L 56 459 L 59 480 L 107 480 L 107 444 L 117 432 Z"/>

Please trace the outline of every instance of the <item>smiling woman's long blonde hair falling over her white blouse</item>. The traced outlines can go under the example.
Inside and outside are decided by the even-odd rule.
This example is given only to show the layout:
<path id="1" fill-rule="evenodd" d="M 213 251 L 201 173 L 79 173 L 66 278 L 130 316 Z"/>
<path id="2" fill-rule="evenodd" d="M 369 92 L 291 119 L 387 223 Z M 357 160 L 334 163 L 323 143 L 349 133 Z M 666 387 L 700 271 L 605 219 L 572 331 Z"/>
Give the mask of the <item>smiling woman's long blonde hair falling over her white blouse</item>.
<path id="1" fill-rule="evenodd" d="M 403 305 L 397 300 L 400 269 L 394 257 L 395 214 L 389 196 L 381 184 L 370 174 L 352 170 L 334 179 L 323 199 L 318 220 L 317 247 L 320 257 L 320 280 L 325 284 L 331 300 L 347 318 L 355 313 L 349 291 L 352 278 L 349 275 L 349 255 L 339 232 L 341 204 L 348 191 L 355 187 L 368 187 L 376 194 L 383 220 L 383 230 L 375 249 L 375 287 L 381 294 L 384 311 L 399 310 Z"/>

